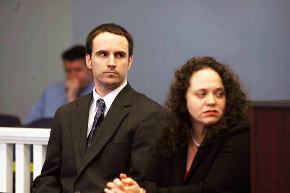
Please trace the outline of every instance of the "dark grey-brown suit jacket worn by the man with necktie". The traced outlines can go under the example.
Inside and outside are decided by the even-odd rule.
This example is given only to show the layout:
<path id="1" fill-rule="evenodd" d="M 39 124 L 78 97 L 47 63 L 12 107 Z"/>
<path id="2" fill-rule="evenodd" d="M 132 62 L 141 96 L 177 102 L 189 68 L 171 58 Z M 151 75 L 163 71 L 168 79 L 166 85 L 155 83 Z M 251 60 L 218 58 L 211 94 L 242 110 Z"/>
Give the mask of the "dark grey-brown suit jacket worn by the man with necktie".
<path id="1" fill-rule="evenodd" d="M 91 99 L 92 93 L 57 109 L 33 192 L 103 192 L 121 172 L 141 173 L 157 141 L 163 107 L 128 83 L 86 151 Z"/>

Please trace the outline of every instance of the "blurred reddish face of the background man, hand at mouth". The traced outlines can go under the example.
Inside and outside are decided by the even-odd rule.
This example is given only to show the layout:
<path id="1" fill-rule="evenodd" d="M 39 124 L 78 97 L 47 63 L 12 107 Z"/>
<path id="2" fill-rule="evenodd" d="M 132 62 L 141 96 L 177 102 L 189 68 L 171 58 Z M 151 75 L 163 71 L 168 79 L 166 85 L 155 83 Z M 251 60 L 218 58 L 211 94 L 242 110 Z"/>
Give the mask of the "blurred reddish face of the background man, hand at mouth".
<path id="1" fill-rule="evenodd" d="M 92 71 L 87 68 L 84 59 L 77 59 L 74 61 L 65 60 L 64 67 L 66 79 L 77 78 L 81 88 L 85 88 L 92 83 Z"/>

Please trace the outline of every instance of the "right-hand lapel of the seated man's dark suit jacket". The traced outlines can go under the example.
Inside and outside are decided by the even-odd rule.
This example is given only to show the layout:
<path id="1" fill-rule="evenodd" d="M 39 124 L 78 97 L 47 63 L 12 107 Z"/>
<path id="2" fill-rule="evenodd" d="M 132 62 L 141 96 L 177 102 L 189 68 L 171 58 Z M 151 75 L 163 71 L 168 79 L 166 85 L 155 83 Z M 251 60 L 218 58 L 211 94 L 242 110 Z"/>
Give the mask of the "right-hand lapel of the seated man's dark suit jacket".
<path id="1" fill-rule="evenodd" d="M 103 122 L 101 123 L 100 128 L 96 132 L 90 148 L 84 154 L 83 162 L 78 169 L 77 177 L 107 144 L 117 130 L 118 126 L 121 124 L 122 120 L 128 114 L 127 109 L 124 107 L 132 105 L 133 93 L 134 90 L 130 87 L 129 83 L 127 83 L 127 85 L 116 96 Z"/>

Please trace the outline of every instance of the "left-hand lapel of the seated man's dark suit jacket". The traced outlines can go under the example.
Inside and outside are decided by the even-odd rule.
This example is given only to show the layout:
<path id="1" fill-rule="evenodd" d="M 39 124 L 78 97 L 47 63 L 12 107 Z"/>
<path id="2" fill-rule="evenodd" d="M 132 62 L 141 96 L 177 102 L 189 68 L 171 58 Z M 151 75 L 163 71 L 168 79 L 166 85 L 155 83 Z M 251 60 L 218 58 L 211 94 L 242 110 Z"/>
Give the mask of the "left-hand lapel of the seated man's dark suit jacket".
<path id="1" fill-rule="evenodd" d="M 76 159 L 76 167 L 82 165 L 83 157 L 85 156 L 87 146 L 87 131 L 89 119 L 89 107 L 92 99 L 92 93 L 84 100 L 77 103 L 76 108 L 70 115 L 70 128 L 72 134 L 72 146 Z"/>

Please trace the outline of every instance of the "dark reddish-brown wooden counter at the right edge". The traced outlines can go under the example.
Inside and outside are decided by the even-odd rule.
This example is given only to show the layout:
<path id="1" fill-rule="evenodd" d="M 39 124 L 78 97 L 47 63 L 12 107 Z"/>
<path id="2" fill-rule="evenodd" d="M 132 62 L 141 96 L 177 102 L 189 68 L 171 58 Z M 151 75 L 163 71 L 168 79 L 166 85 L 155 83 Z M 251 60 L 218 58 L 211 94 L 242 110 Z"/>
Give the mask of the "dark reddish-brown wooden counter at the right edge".
<path id="1" fill-rule="evenodd" d="M 290 101 L 250 101 L 251 192 L 290 192 Z"/>

